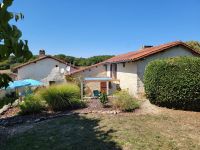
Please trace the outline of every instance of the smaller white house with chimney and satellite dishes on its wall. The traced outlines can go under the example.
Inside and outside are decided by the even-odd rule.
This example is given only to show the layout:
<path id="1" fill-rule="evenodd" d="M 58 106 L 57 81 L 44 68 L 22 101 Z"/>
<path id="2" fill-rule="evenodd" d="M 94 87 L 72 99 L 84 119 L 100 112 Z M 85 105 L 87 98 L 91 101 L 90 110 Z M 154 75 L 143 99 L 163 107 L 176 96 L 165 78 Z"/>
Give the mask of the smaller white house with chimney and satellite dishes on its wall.
<path id="1" fill-rule="evenodd" d="M 45 55 L 45 51 L 40 50 L 39 58 L 19 65 L 13 70 L 17 73 L 17 80 L 30 78 L 49 85 L 55 82 L 64 82 L 64 74 L 76 71 L 77 68 L 72 67 L 63 60 Z"/>

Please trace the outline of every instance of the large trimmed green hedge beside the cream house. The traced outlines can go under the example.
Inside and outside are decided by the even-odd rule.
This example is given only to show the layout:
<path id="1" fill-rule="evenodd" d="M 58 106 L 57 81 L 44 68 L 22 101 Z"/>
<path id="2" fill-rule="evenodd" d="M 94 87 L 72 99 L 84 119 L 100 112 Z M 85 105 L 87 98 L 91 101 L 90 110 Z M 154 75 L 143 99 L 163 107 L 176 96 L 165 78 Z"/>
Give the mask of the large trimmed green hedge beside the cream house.
<path id="1" fill-rule="evenodd" d="M 144 74 L 147 98 L 158 106 L 200 111 L 200 58 L 150 62 Z"/>

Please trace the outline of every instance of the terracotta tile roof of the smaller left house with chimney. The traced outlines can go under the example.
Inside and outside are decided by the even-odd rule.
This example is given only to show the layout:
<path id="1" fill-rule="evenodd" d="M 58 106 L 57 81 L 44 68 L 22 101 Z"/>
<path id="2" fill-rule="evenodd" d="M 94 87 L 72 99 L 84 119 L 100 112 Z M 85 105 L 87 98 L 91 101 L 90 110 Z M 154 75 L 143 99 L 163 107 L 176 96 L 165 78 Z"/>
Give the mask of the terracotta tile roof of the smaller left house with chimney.
<path id="1" fill-rule="evenodd" d="M 63 60 L 61 60 L 61 59 L 55 58 L 55 57 L 50 56 L 50 55 L 45 55 L 45 56 L 39 57 L 39 58 L 37 58 L 37 59 L 34 59 L 34 60 L 32 60 L 32 61 L 29 61 L 29 62 L 27 62 L 27 63 L 18 65 L 18 66 L 16 66 L 16 67 L 12 68 L 12 70 L 19 69 L 19 68 L 21 68 L 21 67 L 27 66 L 27 65 L 29 65 L 29 64 L 35 63 L 35 62 L 37 62 L 37 61 L 40 61 L 40 60 L 43 60 L 43 59 L 46 59 L 46 58 L 51 58 L 51 59 L 54 59 L 54 60 L 56 60 L 56 61 L 58 61 L 58 62 L 60 62 L 60 63 L 68 64 L 67 62 L 65 62 L 65 61 L 63 61 Z M 68 65 L 70 65 L 70 64 L 68 64 Z M 78 68 L 75 67 L 75 66 L 72 66 L 72 67 L 73 67 L 74 69 L 78 69 Z"/>

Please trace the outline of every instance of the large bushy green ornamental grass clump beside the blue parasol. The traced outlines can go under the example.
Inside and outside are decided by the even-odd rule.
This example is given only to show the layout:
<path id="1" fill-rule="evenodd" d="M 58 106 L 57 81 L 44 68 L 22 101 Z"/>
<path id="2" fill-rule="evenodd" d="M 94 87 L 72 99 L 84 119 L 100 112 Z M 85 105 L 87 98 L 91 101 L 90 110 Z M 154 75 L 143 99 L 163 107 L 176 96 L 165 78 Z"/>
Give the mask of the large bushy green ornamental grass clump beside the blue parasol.
<path id="1" fill-rule="evenodd" d="M 54 111 L 84 106 L 80 100 L 80 88 L 74 84 L 54 85 L 42 90 L 40 94 Z"/>

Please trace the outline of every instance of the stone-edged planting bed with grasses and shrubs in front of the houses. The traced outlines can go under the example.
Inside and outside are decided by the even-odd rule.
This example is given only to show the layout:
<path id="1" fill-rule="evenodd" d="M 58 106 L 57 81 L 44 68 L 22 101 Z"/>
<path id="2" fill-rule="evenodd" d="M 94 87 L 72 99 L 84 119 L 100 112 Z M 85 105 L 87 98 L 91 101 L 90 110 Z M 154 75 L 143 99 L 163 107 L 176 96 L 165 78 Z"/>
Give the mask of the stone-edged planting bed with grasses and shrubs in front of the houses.
<path id="1" fill-rule="evenodd" d="M 118 114 L 134 112 L 139 108 L 140 101 L 126 91 L 118 91 L 112 97 L 102 93 L 99 97 L 81 100 L 80 87 L 75 83 L 39 87 L 26 95 L 23 100 L 15 100 L 17 96 L 6 95 L 2 98 L 1 126 L 12 126 L 69 113 L 107 113 Z M 9 106 L 4 110 L 5 106 Z"/>

